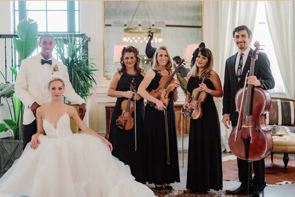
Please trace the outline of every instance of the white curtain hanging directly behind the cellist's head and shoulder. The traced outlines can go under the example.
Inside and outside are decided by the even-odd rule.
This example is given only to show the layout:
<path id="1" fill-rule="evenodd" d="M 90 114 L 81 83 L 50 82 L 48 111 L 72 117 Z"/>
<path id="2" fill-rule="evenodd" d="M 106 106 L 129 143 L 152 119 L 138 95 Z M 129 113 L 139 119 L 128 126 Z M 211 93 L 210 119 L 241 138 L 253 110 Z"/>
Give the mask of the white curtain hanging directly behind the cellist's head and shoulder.
<path id="1" fill-rule="evenodd" d="M 204 1 L 204 42 L 212 51 L 214 70 L 224 83 L 224 69 L 227 58 L 235 54 L 233 30 L 246 25 L 254 30 L 257 1 Z M 228 138 L 230 129 L 224 127 L 222 120 L 222 98 L 215 99 L 220 120 L 222 151 L 229 152 Z"/>

